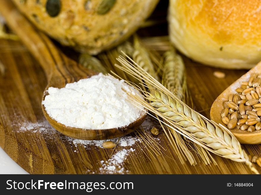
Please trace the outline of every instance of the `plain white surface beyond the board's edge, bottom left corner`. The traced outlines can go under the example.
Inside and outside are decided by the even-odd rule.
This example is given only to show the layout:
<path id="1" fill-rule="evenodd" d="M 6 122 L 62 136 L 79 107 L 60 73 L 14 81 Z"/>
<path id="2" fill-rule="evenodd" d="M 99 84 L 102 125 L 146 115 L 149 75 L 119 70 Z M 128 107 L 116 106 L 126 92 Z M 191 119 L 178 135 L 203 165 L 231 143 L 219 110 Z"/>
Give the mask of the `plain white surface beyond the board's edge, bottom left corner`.
<path id="1" fill-rule="evenodd" d="M 0 147 L 0 174 L 28 174 Z"/>

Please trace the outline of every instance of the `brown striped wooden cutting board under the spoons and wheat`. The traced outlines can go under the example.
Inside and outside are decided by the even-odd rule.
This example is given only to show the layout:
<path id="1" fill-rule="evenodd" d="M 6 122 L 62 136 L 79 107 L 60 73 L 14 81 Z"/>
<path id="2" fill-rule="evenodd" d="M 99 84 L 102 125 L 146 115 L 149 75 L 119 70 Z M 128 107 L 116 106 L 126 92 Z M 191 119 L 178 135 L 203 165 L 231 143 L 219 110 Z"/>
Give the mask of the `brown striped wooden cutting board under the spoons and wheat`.
<path id="1" fill-rule="evenodd" d="M 47 84 L 37 61 L 20 42 L 0 40 L 0 146 L 31 174 L 99 174 L 106 173 L 101 161 L 107 161 L 112 149 L 96 145 L 74 144 L 69 137 L 55 131 L 45 120 L 41 109 L 42 92 Z M 213 77 L 214 69 L 184 57 L 187 83 L 195 110 L 209 118 L 209 110 L 216 97 L 246 71 L 222 70 L 225 79 Z M 149 124 L 147 126 L 153 126 Z M 135 134 L 132 134 L 135 137 Z M 247 166 L 219 156 L 218 165 L 191 166 L 182 164 L 162 132 L 155 142 L 162 146 L 162 154 L 151 153 L 144 142 L 132 146 L 117 146 L 128 153 L 123 167 L 125 174 L 251 174 Z M 243 145 L 251 155 L 261 156 L 261 145 Z M 258 171 L 261 168 L 256 166 Z M 115 172 L 117 173 L 117 172 Z"/>

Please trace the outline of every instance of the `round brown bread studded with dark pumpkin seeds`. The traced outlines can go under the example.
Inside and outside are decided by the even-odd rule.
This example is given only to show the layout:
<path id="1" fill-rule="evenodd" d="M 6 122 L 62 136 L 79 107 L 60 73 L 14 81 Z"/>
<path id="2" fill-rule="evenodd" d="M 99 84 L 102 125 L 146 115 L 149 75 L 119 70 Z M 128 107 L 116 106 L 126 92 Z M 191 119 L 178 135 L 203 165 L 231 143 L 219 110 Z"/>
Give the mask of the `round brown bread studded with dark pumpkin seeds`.
<path id="1" fill-rule="evenodd" d="M 13 0 L 39 29 L 63 45 L 97 54 L 137 30 L 159 0 Z"/>

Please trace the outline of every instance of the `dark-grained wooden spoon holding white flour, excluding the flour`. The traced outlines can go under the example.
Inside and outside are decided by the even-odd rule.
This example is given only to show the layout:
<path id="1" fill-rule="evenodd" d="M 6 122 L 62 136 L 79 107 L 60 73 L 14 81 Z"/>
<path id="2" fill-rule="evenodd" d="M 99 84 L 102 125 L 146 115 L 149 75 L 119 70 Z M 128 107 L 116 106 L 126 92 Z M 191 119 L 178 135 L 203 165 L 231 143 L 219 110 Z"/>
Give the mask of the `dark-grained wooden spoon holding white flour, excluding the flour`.
<path id="1" fill-rule="evenodd" d="M 66 83 L 72 83 L 97 74 L 61 53 L 45 34 L 36 30 L 16 9 L 12 1 L 0 1 L 0 12 L 12 30 L 15 31 L 21 41 L 40 62 L 46 73 L 48 84 L 44 90 L 42 100 L 48 94 L 46 89 L 49 87 L 63 88 Z M 65 126 L 50 118 L 43 105 L 42 110 L 47 121 L 56 130 L 69 137 L 86 140 L 111 139 L 129 134 L 138 128 L 147 116 L 143 112 L 136 121 L 125 127 L 114 129 L 79 129 Z"/>

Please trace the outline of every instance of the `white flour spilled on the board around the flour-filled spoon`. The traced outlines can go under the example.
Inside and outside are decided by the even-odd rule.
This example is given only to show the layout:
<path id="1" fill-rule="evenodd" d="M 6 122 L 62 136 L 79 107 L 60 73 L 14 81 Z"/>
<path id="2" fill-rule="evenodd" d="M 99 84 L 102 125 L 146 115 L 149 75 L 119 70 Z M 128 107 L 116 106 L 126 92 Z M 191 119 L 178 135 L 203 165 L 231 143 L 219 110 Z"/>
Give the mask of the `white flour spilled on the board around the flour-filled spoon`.
<path id="1" fill-rule="evenodd" d="M 29 121 L 24 122 L 17 122 L 14 123 L 13 129 L 16 130 L 17 133 L 23 133 L 30 131 L 31 133 L 40 133 L 43 134 L 44 137 L 52 137 L 54 136 L 60 136 L 60 133 L 56 131 L 50 124 L 46 121 L 38 121 L 37 123 L 31 123 Z M 142 124 L 142 128 L 144 131 L 150 135 L 150 128 L 152 126 L 158 127 L 159 124 L 157 121 L 154 121 L 152 118 L 147 117 L 144 123 Z M 153 137 L 153 136 L 152 136 Z M 61 138 L 59 138 L 61 139 Z M 67 136 L 63 136 L 63 139 L 66 139 L 69 143 L 72 144 L 72 148 L 78 148 L 79 145 L 82 145 L 84 148 L 89 149 L 91 145 L 97 146 L 100 148 L 102 147 L 102 143 L 104 141 L 112 141 L 114 143 L 117 143 L 119 138 L 114 139 L 107 139 L 107 140 L 81 140 L 81 139 L 75 139 Z M 159 140 L 157 137 L 153 137 L 155 140 Z M 142 142 L 142 140 L 139 137 L 132 137 L 131 135 L 125 135 L 123 137 L 120 137 L 120 140 L 118 142 L 118 146 L 116 148 L 116 153 L 112 155 L 112 158 L 108 159 L 107 161 L 99 161 L 100 168 L 98 172 L 93 173 L 101 173 L 101 174 L 124 174 L 128 173 L 128 170 L 125 170 L 124 168 L 124 161 L 126 160 L 127 156 L 130 155 L 130 153 L 133 153 L 135 149 L 131 148 L 136 142 Z M 74 152 L 78 152 L 77 150 L 73 150 Z"/>

